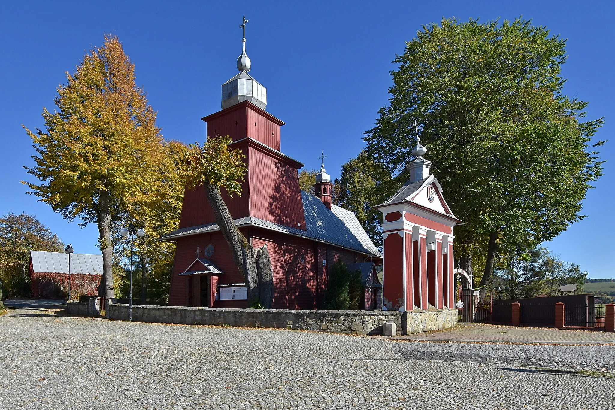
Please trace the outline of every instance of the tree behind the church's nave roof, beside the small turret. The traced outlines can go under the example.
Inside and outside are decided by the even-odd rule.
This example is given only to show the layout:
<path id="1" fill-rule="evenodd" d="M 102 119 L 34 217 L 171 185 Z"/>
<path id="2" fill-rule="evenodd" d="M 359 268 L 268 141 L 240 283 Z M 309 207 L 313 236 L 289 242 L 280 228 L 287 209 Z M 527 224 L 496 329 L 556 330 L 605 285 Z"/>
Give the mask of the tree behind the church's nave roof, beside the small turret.
<path id="1" fill-rule="evenodd" d="M 391 179 L 383 165 L 361 151 L 342 166 L 333 184 L 333 203 L 354 212 L 359 223 L 377 245 L 382 246 L 382 213 L 374 205 L 384 202 L 381 187 Z"/>

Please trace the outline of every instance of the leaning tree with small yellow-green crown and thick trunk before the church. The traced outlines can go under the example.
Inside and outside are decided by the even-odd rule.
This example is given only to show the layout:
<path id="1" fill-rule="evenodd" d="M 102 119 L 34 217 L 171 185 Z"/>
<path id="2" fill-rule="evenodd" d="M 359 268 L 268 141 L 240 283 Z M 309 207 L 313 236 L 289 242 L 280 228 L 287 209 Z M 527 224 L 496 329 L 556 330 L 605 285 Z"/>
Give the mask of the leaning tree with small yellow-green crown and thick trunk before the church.
<path id="1" fill-rule="evenodd" d="M 216 224 L 228 244 L 232 259 L 243 275 L 248 291 L 248 306 L 271 309 L 273 304 L 273 270 L 267 245 L 255 248 L 235 225 L 231 213 L 222 199 L 220 189 L 231 197 L 241 195 L 242 181 L 247 167 L 239 149 L 229 149 L 229 136 L 207 138 L 203 146 L 192 144 L 186 153 L 183 176 L 186 187 L 203 186 L 213 209 Z"/>

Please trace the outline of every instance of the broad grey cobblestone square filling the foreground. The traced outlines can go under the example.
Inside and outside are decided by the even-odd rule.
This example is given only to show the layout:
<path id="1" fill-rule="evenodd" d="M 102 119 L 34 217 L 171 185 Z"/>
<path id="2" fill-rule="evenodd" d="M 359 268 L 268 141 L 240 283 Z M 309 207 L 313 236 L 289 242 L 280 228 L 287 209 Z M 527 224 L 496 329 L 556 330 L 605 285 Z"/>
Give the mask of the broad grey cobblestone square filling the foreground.
<path id="1" fill-rule="evenodd" d="M 613 366 L 609 345 L 0 317 L 0 409 L 613 409 Z"/>

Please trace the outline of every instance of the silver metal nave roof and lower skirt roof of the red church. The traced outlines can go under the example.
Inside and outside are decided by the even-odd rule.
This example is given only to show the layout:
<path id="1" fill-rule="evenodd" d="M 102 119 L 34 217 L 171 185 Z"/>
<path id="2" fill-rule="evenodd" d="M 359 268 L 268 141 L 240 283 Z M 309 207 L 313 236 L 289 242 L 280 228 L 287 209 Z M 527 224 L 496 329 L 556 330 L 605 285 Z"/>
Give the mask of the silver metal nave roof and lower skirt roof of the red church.
<path id="1" fill-rule="evenodd" d="M 303 212 L 306 218 L 306 230 L 288 227 L 253 216 L 235 219 L 236 226 L 254 226 L 270 231 L 284 232 L 298 237 L 317 240 L 360 253 L 382 257 L 376 245 L 371 242 L 357 217 L 351 211 L 331 205 L 331 210 L 325 207 L 320 199 L 308 192 L 301 191 Z M 207 224 L 176 229 L 164 235 L 160 240 L 176 240 L 189 235 L 219 231 L 217 224 Z"/>

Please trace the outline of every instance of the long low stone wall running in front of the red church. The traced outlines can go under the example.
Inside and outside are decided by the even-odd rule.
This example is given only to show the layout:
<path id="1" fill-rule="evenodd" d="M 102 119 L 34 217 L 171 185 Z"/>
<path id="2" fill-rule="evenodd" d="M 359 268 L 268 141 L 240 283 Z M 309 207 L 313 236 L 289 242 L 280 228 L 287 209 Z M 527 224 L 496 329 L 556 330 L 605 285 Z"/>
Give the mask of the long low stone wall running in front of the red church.
<path id="1" fill-rule="evenodd" d="M 109 305 L 106 317 L 128 320 L 128 305 Z M 397 334 L 402 334 L 402 313 L 392 310 L 262 310 L 133 305 L 132 320 L 351 334 L 382 334 L 383 324 L 394 322 Z"/>

